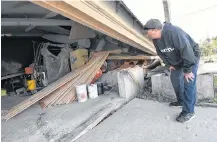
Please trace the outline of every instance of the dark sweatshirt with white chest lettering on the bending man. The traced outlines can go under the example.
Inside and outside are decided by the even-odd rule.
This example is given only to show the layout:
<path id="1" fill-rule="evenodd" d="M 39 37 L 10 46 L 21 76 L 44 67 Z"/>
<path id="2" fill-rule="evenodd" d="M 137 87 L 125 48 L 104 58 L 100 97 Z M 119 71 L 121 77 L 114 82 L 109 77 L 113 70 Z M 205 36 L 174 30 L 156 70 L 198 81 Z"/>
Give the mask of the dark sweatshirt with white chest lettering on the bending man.
<path id="1" fill-rule="evenodd" d="M 153 40 L 158 56 L 167 66 L 183 68 L 185 73 L 192 71 L 192 66 L 200 58 L 198 44 L 182 29 L 165 23 L 161 39 Z"/>

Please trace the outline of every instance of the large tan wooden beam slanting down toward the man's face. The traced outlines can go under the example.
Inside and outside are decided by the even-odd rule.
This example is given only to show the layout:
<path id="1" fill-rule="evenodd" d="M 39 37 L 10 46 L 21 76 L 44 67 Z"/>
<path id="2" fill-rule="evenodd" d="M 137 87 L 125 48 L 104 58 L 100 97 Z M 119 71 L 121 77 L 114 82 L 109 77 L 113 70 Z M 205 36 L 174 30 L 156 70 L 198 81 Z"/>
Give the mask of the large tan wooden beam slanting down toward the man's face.
<path id="1" fill-rule="evenodd" d="M 102 8 L 97 9 L 86 1 L 31 1 L 39 6 L 47 8 L 51 11 L 60 13 L 76 22 L 88 26 L 94 30 L 100 31 L 117 40 L 127 43 L 144 52 L 156 55 L 153 44 L 141 38 L 136 33 L 129 32 L 126 27 L 120 25 L 120 22 L 108 17 L 108 13 L 102 13 Z M 114 22 L 115 21 L 115 22 Z"/>

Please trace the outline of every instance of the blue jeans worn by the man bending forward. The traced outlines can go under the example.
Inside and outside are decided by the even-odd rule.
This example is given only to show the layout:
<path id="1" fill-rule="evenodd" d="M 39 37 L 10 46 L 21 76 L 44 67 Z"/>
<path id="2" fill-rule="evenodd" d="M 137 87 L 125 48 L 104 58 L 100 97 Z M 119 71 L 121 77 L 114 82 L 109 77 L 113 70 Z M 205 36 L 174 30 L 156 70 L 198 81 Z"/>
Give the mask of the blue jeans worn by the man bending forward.
<path id="1" fill-rule="evenodd" d="M 192 67 L 192 73 L 194 74 L 194 80 L 189 82 L 184 78 L 183 69 L 176 69 L 171 71 L 170 79 L 176 93 L 177 101 L 183 105 L 183 112 L 194 112 L 194 105 L 196 103 L 196 79 L 199 60 Z"/>

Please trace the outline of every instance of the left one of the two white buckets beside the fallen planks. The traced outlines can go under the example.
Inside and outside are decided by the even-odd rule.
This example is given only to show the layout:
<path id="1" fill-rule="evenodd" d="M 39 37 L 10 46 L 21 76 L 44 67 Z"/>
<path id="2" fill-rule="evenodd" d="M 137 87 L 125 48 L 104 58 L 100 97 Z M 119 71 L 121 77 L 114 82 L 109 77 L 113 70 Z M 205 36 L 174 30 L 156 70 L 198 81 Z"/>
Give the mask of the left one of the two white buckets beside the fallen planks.
<path id="1" fill-rule="evenodd" d="M 87 85 L 79 85 L 76 86 L 76 94 L 78 98 L 78 102 L 85 102 L 87 101 Z"/>

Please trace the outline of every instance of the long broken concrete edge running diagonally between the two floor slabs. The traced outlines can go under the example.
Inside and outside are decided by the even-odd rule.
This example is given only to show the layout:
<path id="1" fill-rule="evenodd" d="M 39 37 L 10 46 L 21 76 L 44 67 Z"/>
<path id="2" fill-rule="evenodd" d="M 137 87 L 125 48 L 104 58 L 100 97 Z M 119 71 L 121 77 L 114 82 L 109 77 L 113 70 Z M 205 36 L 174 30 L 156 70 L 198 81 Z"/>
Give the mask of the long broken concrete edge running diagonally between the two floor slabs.
<path id="1" fill-rule="evenodd" d="M 130 99 L 125 99 L 125 100 L 118 99 L 115 100 L 115 102 L 111 102 L 105 105 L 103 108 L 101 108 L 99 111 L 97 111 L 92 116 L 90 116 L 86 121 L 81 123 L 74 130 L 72 130 L 68 134 L 63 135 L 62 137 L 60 137 L 58 140 L 55 141 L 56 142 L 76 141 L 82 135 L 86 134 L 88 131 L 96 127 L 98 124 L 103 122 L 105 118 L 107 118 L 108 116 L 112 115 L 114 112 L 121 109 L 124 105 L 128 104 L 134 98 L 135 97 L 132 97 Z"/>

